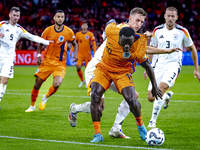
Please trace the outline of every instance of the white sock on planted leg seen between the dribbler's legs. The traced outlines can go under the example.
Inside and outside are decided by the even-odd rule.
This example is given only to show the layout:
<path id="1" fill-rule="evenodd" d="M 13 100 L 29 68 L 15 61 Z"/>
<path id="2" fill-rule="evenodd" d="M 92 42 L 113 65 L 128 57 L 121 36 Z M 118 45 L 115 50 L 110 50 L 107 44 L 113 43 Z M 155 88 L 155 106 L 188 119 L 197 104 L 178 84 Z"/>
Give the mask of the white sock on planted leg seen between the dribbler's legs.
<path id="1" fill-rule="evenodd" d="M 124 121 L 129 112 L 129 105 L 125 100 L 123 100 L 119 105 L 113 127 L 121 129 L 122 122 Z"/>

